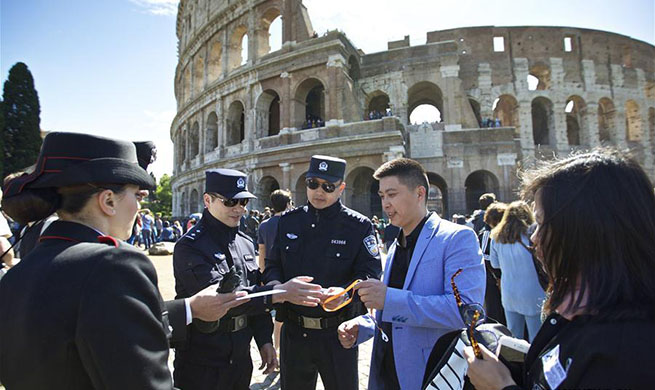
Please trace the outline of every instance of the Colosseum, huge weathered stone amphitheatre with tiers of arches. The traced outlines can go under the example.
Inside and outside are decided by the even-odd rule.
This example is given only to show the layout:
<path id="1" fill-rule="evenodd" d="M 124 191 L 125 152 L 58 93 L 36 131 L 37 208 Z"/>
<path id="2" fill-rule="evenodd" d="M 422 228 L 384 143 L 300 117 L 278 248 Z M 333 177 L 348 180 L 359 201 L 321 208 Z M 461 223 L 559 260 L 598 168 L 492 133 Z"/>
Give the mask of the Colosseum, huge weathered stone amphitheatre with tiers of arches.
<path id="1" fill-rule="evenodd" d="M 277 188 L 302 204 L 313 154 L 347 160 L 342 200 L 369 216 L 381 214 L 373 171 L 399 156 L 429 172 L 442 215 L 484 192 L 513 199 L 522 164 L 603 144 L 630 148 L 655 179 L 655 47 L 623 35 L 456 28 L 365 54 L 341 31 L 318 36 L 301 0 L 181 0 L 177 37 L 177 216 L 202 210 L 204 171 L 219 167 L 249 175 L 255 207 Z M 425 105 L 438 116 L 411 123 Z"/>

